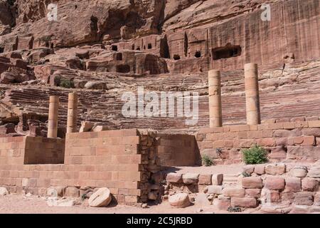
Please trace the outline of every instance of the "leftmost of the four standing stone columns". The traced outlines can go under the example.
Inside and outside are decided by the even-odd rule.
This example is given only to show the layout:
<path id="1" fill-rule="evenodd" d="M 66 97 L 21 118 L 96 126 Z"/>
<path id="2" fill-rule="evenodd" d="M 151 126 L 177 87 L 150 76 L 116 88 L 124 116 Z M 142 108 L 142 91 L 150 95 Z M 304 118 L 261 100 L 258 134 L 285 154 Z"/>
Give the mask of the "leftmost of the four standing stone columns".
<path id="1" fill-rule="evenodd" d="M 52 95 L 49 102 L 48 138 L 57 138 L 59 97 Z"/>

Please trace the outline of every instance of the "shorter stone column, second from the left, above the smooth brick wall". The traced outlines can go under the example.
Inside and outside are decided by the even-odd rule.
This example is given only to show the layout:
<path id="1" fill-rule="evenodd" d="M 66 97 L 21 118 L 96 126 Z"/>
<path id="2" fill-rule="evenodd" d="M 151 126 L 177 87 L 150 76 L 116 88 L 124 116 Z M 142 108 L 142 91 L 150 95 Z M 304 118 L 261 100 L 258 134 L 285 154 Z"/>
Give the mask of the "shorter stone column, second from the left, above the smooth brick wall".
<path id="1" fill-rule="evenodd" d="M 75 133 L 77 131 L 77 115 L 78 115 L 78 94 L 69 93 L 67 133 Z"/>

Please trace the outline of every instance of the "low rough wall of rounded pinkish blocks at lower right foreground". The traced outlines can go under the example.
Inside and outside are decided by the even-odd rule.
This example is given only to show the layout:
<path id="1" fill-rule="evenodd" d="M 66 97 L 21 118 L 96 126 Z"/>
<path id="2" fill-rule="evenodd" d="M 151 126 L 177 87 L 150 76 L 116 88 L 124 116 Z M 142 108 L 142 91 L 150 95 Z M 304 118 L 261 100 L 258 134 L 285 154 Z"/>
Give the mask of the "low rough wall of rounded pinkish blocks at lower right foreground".
<path id="1" fill-rule="evenodd" d="M 269 213 L 319 212 L 319 164 L 246 165 L 243 173 L 245 177 L 240 175 L 235 185 L 228 185 L 218 173 L 169 172 L 163 198 L 177 192 L 186 192 L 193 198 L 196 193 L 205 192 L 208 201 L 225 211 L 260 206 L 262 212 Z"/>

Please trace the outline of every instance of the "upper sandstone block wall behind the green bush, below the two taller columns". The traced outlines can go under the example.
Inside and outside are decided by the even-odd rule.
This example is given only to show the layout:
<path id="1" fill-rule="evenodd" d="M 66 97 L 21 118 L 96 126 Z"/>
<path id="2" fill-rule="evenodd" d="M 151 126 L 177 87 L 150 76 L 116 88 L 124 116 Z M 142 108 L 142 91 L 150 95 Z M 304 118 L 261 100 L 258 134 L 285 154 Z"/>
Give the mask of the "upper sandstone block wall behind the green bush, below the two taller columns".
<path id="1" fill-rule="evenodd" d="M 201 155 L 216 164 L 242 162 L 243 148 L 265 147 L 270 161 L 314 162 L 320 158 L 320 121 L 230 125 L 206 128 L 196 135 Z"/>

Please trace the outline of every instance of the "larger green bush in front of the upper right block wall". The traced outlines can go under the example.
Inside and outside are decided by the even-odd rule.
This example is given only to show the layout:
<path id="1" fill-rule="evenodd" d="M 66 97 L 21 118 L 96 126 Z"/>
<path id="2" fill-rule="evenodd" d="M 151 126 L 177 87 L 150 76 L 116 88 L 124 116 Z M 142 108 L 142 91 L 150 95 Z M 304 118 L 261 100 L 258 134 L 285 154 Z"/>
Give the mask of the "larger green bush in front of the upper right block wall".
<path id="1" fill-rule="evenodd" d="M 258 145 L 242 151 L 245 164 L 262 164 L 267 162 L 267 151 Z"/>

